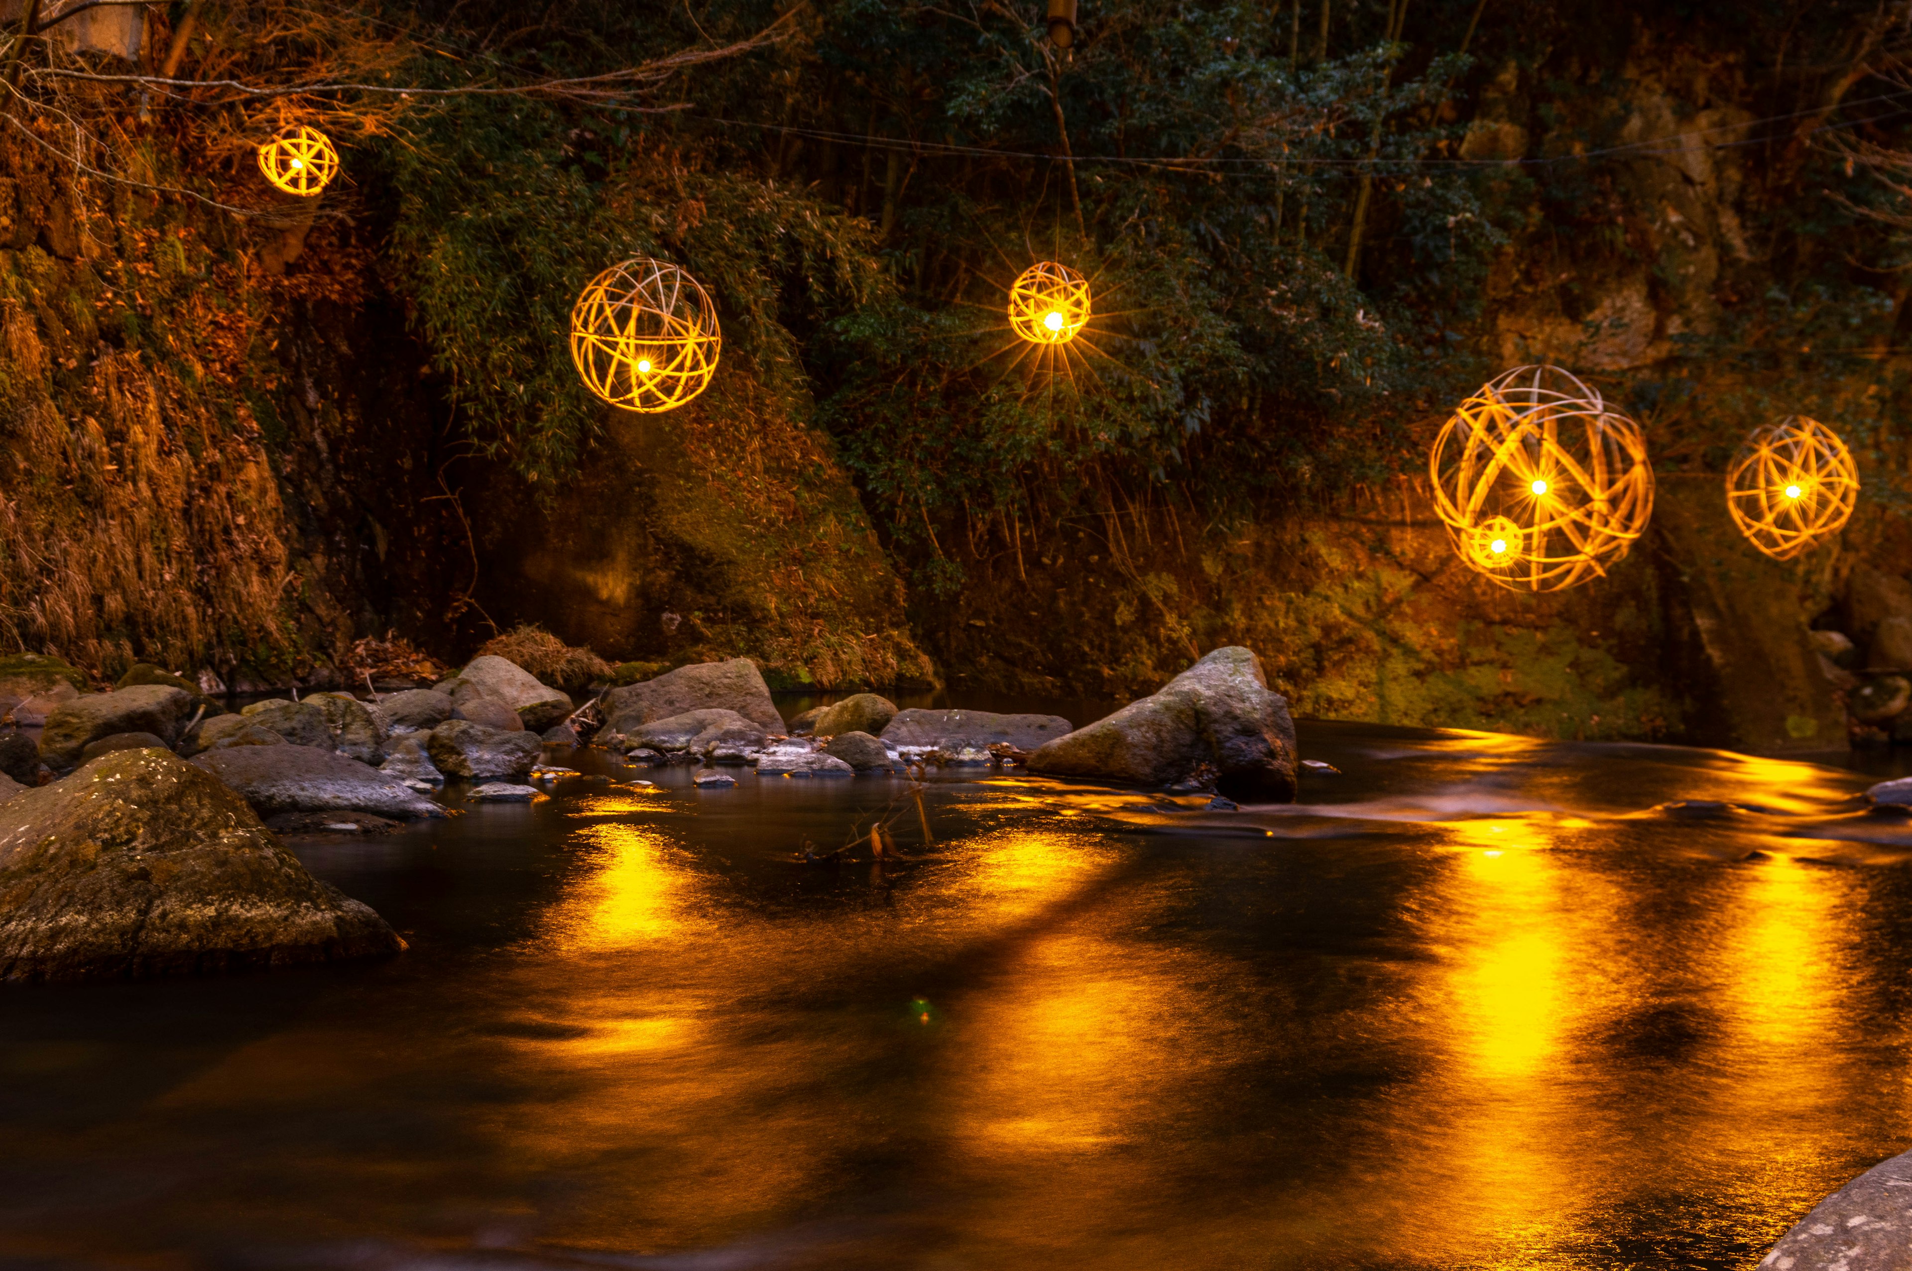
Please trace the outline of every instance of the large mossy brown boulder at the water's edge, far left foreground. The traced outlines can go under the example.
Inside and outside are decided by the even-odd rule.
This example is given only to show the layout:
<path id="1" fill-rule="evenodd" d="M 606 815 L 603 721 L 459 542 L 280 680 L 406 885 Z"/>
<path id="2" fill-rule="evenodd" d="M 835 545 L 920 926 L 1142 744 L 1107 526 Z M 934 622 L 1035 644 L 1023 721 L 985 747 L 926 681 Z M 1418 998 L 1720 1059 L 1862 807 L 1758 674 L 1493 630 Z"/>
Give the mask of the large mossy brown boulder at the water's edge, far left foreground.
<path id="1" fill-rule="evenodd" d="M 0 979 L 122 979 L 396 954 L 245 799 L 159 749 L 0 803 Z"/>

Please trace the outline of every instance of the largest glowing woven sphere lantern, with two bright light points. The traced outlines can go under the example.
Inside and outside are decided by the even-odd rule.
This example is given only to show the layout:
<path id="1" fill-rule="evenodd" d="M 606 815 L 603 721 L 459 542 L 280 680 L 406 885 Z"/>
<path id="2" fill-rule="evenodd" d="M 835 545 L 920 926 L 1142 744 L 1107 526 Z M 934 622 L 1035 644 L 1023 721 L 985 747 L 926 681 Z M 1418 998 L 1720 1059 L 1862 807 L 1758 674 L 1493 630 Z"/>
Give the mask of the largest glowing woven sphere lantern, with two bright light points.
<path id="1" fill-rule="evenodd" d="M 1654 510 L 1639 424 L 1558 367 L 1516 367 L 1463 401 L 1428 474 L 1461 560 L 1514 591 L 1602 577 Z"/>

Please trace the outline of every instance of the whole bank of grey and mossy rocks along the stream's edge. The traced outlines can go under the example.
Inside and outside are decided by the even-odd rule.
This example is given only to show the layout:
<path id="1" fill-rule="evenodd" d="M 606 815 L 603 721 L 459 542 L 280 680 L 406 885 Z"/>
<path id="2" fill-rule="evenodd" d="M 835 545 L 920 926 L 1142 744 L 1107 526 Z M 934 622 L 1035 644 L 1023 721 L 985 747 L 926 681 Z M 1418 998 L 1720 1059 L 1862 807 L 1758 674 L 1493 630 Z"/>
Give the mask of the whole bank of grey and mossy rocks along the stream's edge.
<path id="1" fill-rule="evenodd" d="M 899 709 L 857 694 L 784 722 L 736 657 L 606 688 L 581 709 L 512 661 L 361 701 L 231 711 L 159 667 L 107 692 L 52 657 L 0 659 L 0 979 L 273 967 L 403 940 L 275 837 L 363 833 L 472 803 L 522 803 L 547 745 L 696 765 L 696 786 L 1025 765 L 1057 778 L 1294 797 L 1294 724 L 1260 659 L 1222 648 L 1161 692 L 1071 728 L 1055 715 Z M 554 770 L 562 772 L 562 770 Z"/>

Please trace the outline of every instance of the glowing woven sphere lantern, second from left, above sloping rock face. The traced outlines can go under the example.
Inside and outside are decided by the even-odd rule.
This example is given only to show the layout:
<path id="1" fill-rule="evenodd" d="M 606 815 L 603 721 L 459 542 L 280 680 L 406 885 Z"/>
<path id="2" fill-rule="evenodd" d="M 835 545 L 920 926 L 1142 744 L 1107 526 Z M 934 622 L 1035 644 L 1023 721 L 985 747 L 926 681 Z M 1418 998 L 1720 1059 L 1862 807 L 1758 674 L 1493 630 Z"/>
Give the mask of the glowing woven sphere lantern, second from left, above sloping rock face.
<path id="1" fill-rule="evenodd" d="M 572 308 L 572 361 L 585 386 L 627 411 L 671 411 L 717 373 L 723 333 L 698 281 L 639 256 L 591 279 Z"/>

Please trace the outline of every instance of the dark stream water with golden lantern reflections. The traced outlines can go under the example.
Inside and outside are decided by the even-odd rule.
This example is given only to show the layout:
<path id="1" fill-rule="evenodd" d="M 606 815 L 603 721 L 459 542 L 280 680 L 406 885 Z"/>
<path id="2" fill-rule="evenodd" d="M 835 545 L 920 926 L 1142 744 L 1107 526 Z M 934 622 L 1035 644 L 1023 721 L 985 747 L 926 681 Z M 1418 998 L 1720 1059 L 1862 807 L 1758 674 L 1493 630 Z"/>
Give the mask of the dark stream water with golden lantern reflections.
<path id="1" fill-rule="evenodd" d="M 946 770 L 927 845 L 904 780 L 577 751 L 618 784 L 294 839 L 411 952 L 0 994 L 0 1260 L 1751 1267 L 1912 1147 L 1876 776 L 1302 753 L 1239 812 Z M 878 814 L 910 860 L 793 862 Z"/>

